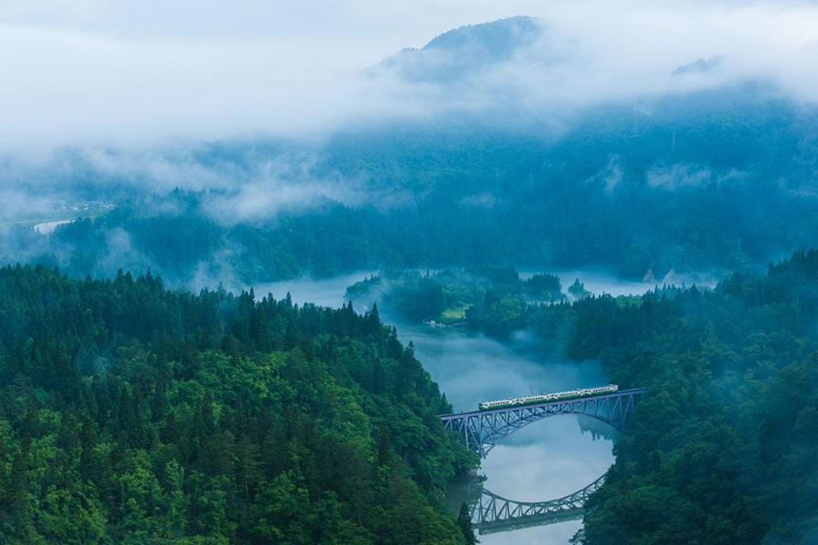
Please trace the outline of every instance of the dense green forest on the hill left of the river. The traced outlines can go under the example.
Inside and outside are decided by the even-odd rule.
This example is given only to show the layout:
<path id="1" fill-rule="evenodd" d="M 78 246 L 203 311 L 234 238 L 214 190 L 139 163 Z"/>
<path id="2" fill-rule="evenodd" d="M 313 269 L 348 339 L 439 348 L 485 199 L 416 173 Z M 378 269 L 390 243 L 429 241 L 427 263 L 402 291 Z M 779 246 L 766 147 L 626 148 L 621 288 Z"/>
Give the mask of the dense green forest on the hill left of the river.
<path id="1" fill-rule="evenodd" d="M 377 309 L 0 269 L 0 541 L 464 543 L 474 468 Z"/>

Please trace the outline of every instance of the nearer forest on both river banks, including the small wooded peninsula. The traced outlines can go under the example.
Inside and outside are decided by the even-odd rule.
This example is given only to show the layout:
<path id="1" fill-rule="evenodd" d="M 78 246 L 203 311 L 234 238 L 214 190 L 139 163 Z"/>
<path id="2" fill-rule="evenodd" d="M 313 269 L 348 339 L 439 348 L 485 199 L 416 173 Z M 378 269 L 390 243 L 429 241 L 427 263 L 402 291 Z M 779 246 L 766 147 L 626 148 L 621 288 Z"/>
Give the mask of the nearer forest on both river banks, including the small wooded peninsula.
<path id="1" fill-rule="evenodd" d="M 376 307 L 44 266 L 0 280 L 8 542 L 467 539 L 443 487 L 474 458 L 441 430 L 450 407 Z M 567 302 L 554 275 L 484 268 L 387 271 L 348 294 L 376 290 L 414 318 L 525 330 L 649 389 L 575 542 L 815 537 L 818 252 L 712 291 L 595 297 L 574 282 Z"/>

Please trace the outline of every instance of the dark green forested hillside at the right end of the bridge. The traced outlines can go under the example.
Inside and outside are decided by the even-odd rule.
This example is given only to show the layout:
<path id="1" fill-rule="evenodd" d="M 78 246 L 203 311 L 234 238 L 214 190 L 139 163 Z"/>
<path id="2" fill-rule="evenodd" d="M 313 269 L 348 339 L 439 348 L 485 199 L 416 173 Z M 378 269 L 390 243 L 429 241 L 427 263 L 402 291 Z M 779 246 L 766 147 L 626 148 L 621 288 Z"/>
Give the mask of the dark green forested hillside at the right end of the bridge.
<path id="1" fill-rule="evenodd" d="M 818 513 L 818 252 L 713 292 L 542 307 L 542 334 L 645 386 L 586 506 L 586 545 L 813 543 Z"/>

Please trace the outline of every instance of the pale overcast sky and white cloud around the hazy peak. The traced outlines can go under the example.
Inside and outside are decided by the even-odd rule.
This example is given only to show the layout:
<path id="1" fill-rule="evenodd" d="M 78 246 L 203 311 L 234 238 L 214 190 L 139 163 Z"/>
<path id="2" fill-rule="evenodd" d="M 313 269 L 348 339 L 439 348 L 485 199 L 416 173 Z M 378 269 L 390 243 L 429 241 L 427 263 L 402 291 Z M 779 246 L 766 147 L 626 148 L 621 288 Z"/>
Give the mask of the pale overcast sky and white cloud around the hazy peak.
<path id="1" fill-rule="evenodd" d="M 406 103 L 343 74 L 511 15 L 542 18 L 570 50 L 552 80 L 504 67 L 534 101 L 661 90 L 675 66 L 719 54 L 723 77 L 818 99 L 814 3 L 0 0 L 0 149 L 322 130 Z M 539 96 L 556 76 L 562 93 Z"/>

